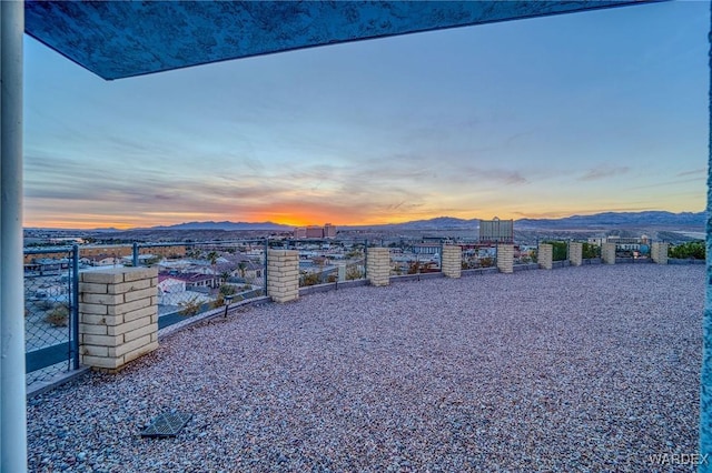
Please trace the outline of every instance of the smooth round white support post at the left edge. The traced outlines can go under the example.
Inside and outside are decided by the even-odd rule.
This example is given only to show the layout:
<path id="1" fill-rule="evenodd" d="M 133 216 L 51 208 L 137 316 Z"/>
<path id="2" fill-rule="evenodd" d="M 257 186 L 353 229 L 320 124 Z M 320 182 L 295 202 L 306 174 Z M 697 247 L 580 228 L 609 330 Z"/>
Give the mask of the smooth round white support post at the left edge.
<path id="1" fill-rule="evenodd" d="M 24 2 L 0 1 L 0 471 L 27 472 L 22 278 Z"/>

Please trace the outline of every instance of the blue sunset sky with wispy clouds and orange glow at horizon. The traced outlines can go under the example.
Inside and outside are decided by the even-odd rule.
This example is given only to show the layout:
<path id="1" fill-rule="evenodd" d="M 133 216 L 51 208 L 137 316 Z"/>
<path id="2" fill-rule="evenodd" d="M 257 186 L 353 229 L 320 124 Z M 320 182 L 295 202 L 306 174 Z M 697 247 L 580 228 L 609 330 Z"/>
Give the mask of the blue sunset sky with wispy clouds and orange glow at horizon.
<path id="1" fill-rule="evenodd" d="M 26 37 L 24 225 L 701 211 L 710 3 L 103 81 Z"/>

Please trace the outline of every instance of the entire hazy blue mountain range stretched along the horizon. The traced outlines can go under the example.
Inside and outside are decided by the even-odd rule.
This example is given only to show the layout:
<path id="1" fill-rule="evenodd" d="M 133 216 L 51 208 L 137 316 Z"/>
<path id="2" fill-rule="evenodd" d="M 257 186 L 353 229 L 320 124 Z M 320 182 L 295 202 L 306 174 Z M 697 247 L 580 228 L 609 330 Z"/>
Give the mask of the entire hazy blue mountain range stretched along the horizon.
<path id="1" fill-rule="evenodd" d="M 514 221 L 515 229 L 597 229 L 607 227 L 626 228 L 678 228 L 704 229 L 705 212 L 604 212 L 593 215 L 572 215 L 562 219 L 520 219 Z M 453 217 L 437 217 L 429 220 L 416 220 L 405 223 L 388 223 L 382 225 L 338 225 L 339 229 L 382 229 L 382 230 L 447 230 L 473 229 L 478 227 L 479 219 L 457 219 Z M 146 230 L 270 230 L 291 231 L 294 227 L 273 222 L 187 222 L 176 225 L 152 227 Z"/>

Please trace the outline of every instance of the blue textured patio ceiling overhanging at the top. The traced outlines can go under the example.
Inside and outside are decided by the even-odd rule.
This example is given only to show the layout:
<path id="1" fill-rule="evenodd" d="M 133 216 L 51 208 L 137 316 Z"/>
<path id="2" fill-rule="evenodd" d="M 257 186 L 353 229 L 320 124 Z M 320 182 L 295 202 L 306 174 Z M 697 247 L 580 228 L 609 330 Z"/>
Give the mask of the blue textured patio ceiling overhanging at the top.
<path id="1" fill-rule="evenodd" d="M 26 32 L 105 79 L 416 31 L 637 3 L 26 1 Z"/>

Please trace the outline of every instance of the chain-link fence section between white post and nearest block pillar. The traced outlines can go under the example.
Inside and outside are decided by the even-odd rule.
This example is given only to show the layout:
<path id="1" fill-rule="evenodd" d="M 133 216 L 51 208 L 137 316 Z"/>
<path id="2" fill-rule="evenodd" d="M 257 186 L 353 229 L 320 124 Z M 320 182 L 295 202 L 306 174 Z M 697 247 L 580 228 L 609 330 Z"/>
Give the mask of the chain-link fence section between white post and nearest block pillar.
<path id="1" fill-rule="evenodd" d="M 24 250 L 27 383 L 79 369 L 79 250 Z"/>

